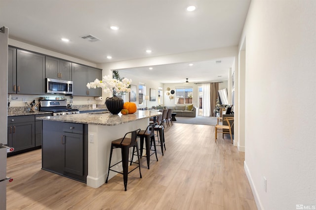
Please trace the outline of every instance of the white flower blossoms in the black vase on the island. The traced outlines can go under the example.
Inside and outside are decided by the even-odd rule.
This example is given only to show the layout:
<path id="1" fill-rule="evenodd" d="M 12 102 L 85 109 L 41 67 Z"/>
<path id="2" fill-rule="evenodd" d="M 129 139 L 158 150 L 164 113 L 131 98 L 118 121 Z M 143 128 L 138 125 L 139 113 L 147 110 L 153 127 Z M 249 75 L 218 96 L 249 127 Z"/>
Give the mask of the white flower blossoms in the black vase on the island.
<path id="1" fill-rule="evenodd" d="M 122 95 L 126 92 L 130 92 L 130 84 L 132 80 L 123 78 L 121 81 L 118 79 L 113 79 L 108 76 L 104 76 L 102 80 L 95 79 L 94 82 L 87 84 L 87 88 L 102 88 L 105 93 L 112 92 L 113 94 Z"/>

